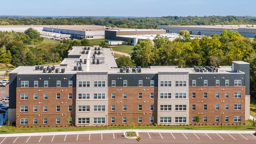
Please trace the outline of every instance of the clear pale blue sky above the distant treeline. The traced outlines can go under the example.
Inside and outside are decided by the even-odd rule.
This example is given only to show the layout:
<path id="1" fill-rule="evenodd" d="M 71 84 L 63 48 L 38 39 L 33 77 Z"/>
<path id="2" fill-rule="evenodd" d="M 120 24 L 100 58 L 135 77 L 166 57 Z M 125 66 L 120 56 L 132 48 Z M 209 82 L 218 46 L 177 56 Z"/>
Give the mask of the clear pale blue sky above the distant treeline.
<path id="1" fill-rule="evenodd" d="M 256 0 L 1 0 L 0 15 L 256 16 Z"/>

